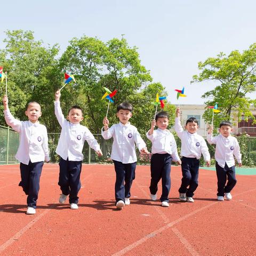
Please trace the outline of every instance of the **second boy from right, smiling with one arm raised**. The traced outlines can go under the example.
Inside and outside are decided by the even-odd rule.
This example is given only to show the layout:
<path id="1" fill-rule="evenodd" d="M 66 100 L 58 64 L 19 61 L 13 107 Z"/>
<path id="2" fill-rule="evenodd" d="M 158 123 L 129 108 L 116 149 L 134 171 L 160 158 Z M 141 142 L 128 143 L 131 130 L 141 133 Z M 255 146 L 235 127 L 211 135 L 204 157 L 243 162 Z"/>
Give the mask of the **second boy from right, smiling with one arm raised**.
<path id="1" fill-rule="evenodd" d="M 198 187 L 198 170 L 199 159 L 204 156 L 204 161 L 207 166 L 210 166 L 210 153 L 204 138 L 197 134 L 199 128 L 198 121 L 194 117 L 190 117 L 183 131 L 180 124 L 180 109 L 176 110 L 176 118 L 174 130 L 181 139 L 181 170 L 182 179 L 179 188 L 180 201 L 194 202 L 194 191 Z"/>

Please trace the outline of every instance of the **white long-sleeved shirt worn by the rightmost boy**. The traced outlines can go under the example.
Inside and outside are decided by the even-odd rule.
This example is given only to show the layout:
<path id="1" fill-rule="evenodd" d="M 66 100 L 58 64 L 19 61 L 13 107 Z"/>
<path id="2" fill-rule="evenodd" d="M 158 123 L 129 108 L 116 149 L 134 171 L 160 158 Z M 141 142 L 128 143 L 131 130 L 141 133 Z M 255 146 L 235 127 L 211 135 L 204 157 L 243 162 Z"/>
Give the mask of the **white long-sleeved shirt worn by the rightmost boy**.
<path id="1" fill-rule="evenodd" d="M 221 134 L 216 137 L 213 137 L 212 134 L 207 134 L 207 141 L 210 144 L 216 144 L 214 157 L 218 165 L 222 168 L 225 167 L 225 163 L 227 163 L 228 167 L 234 166 L 234 156 L 238 163 L 242 163 L 240 147 L 237 139 L 233 136 L 229 135 L 229 137 L 226 138 Z"/>

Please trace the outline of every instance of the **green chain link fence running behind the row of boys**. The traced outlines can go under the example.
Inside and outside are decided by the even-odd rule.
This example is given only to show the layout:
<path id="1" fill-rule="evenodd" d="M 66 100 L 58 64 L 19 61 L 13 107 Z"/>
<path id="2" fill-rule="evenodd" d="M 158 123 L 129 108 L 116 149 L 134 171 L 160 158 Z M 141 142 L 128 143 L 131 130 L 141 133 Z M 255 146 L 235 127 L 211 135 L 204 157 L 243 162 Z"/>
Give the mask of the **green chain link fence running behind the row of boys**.
<path id="1" fill-rule="evenodd" d="M 58 145 L 59 133 L 48 133 L 49 137 L 49 149 L 51 154 L 51 162 L 59 162 L 59 156 L 55 153 L 55 149 Z M 112 163 L 110 159 L 111 147 L 113 139 L 104 140 L 101 134 L 94 134 L 100 144 L 103 156 L 98 157 L 94 150 L 89 147 L 87 142 L 84 143 L 83 154 L 84 163 Z M 151 142 L 146 138 L 146 135 L 141 135 L 142 139 L 146 142 L 147 148 L 151 150 Z M 175 136 L 174 136 L 175 137 Z M 178 137 L 175 137 L 177 142 L 178 152 L 180 153 L 181 142 Z M 256 137 L 249 137 L 246 134 L 242 137 L 237 137 L 242 153 L 242 163 L 244 166 L 256 166 Z M 214 160 L 214 145 L 209 145 L 209 151 L 211 154 L 211 165 L 215 164 Z M 18 161 L 15 159 L 15 154 L 19 146 L 19 134 L 12 129 L 4 126 L 0 126 L 0 164 L 15 164 Z M 149 164 L 150 155 L 140 155 L 137 149 L 138 164 Z M 201 166 L 205 165 L 203 157 L 200 160 Z"/>

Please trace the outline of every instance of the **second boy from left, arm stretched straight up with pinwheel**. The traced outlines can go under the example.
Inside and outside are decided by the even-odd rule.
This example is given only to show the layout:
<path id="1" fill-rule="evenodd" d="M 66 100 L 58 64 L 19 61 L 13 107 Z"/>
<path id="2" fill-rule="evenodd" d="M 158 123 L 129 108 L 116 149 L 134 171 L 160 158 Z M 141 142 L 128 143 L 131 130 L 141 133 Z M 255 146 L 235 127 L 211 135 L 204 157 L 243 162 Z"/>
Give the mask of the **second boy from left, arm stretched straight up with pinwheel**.
<path id="1" fill-rule="evenodd" d="M 98 156 L 102 156 L 100 146 L 89 129 L 80 124 L 84 119 L 82 109 L 73 106 L 68 111 L 67 119 L 62 114 L 60 107 L 60 91 L 55 92 L 55 115 L 61 126 L 61 134 L 56 149 L 60 156 L 60 174 L 58 185 L 62 191 L 59 202 L 65 203 L 69 195 L 70 209 L 78 209 L 78 192 L 81 188 L 80 175 L 82 170 L 83 146 L 86 140 Z"/>

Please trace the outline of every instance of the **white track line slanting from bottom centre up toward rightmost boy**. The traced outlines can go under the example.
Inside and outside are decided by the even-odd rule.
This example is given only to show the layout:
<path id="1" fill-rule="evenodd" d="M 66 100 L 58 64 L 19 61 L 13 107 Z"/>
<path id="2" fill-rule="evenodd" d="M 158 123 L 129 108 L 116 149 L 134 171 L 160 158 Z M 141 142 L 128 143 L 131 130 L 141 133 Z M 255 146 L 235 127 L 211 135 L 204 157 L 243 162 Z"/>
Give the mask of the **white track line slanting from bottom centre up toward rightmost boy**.
<path id="1" fill-rule="evenodd" d="M 166 229 L 168 229 L 168 228 L 174 226 L 175 224 L 179 223 L 180 221 L 185 220 L 185 219 L 191 217 L 192 215 L 194 215 L 194 214 L 196 214 L 196 213 L 198 213 L 198 212 L 200 212 L 200 211 L 203 211 L 203 210 L 205 210 L 205 209 L 207 209 L 207 208 L 209 208 L 209 207 L 211 207 L 211 206 L 213 206 L 213 205 L 215 205 L 215 204 L 217 204 L 217 203 L 218 203 L 218 202 L 214 202 L 214 203 L 205 205 L 205 206 L 203 206 L 202 208 L 199 208 L 199 209 L 195 210 L 194 212 L 188 213 L 188 214 L 184 215 L 183 217 L 181 217 L 181 218 L 179 218 L 179 219 L 177 219 L 177 220 L 174 220 L 174 221 L 168 223 L 167 225 L 163 226 L 162 228 L 159 228 L 159 229 L 157 229 L 157 230 L 155 230 L 155 231 L 149 233 L 148 235 L 142 237 L 142 238 L 139 239 L 138 241 L 136 241 L 136 242 L 134 242 L 134 243 L 132 243 L 132 244 L 126 246 L 123 250 L 112 254 L 112 256 L 121 256 L 121 255 L 124 255 L 126 252 L 129 252 L 129 251 L 131 251 L 132 249 L 134 249 L 135 247 L 137 247 L 137 246 L 143 244 L 144 242 L 146 242 L 146 241 L 147 241 L 148 239 L 150 239 L 151 237 L 156 236 L 157 234 L 159 234 L 159 233 L 163 232 L 164 230 L 166 230 Z"/>

